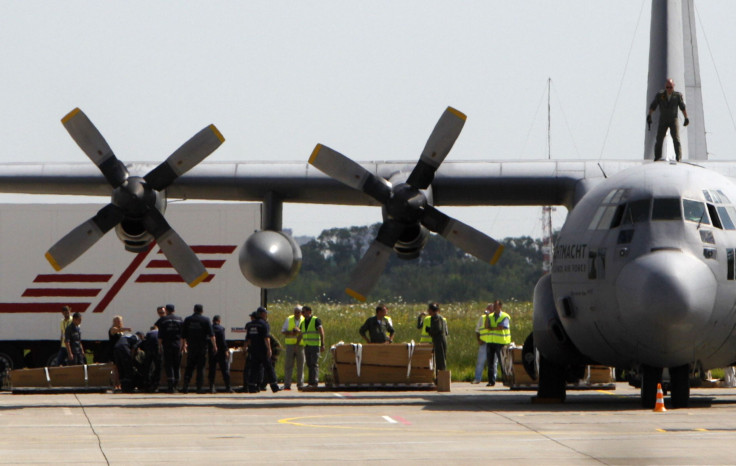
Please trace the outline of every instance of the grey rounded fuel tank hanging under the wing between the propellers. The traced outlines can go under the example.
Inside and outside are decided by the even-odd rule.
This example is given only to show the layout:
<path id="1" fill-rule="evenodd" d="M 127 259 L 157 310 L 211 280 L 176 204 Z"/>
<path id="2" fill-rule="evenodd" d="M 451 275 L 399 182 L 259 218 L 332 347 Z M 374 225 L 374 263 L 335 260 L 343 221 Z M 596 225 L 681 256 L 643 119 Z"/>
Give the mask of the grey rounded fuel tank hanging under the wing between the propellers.
<path id="1" fill-rule="evenodd" d="M 260 288 L 288 285 L 302 266 L 302 250 L 282 231 L 264 230 L 250 235 L 240 248 L 240 271 Z"/>

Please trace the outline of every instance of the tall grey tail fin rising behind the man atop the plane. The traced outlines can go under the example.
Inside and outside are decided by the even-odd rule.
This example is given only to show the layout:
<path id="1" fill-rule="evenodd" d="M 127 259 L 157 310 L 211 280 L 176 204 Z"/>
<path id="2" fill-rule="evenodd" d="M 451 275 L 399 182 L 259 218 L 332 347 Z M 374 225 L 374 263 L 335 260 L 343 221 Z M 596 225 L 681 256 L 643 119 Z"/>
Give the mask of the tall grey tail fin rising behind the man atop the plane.
<path id="1" fill-rule="evenodd" d="M 647 107 L 667 78 L 685 95 L 690 125 L 680 131 L 683 159 L 707 160 L 693 0 L 652 0 Z M 658 112 L 652 115 L 659 118 Z M 654 159 L 656 124 L 645 129 L 644 159 Z"/>

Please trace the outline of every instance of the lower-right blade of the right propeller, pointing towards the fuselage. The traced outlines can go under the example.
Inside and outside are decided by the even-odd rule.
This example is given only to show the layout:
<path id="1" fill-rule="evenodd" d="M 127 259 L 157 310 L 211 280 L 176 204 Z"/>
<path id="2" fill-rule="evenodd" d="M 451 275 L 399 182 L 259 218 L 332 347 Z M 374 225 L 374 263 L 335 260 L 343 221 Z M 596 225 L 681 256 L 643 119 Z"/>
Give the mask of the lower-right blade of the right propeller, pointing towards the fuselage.
<path id="1" fill-rule="evenodd" d="M 449 217 L 433 206 L 424 209 L 422 224 L 449 242 L 483 262 L 495 264 L 503 253 L 503 245 L 460 220 Z"/>

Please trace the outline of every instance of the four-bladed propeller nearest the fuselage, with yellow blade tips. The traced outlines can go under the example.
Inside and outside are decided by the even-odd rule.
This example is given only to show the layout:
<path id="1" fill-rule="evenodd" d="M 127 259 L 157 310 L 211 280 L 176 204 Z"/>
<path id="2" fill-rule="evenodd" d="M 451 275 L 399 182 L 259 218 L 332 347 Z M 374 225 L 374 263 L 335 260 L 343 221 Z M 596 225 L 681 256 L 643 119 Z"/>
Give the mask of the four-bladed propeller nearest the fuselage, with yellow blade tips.
<path id="1" fill-rule="evenodd" d="M 439 166 L 450 153 L 465 124 L 465 115 L 447 107 L 430 134 L 427 144 L 405 183 L 392 186 L 384 178 L 374 175 L 358 163 L 322 144 L 317 144 L 309 163 L 332 178 L 371 196 L 383 204 L 386 219 L 376 239 L 358 262 L 346 288 L 347 294 L 359 301 L 378 282 L 386 268 L 394 245 L 409 229 L 418 224 L 438 233 L 455 246 L 478 259 L 495 264 L 503 252 L 503 245 L 475 228 L 449 217 L 430 205 L 423 192 L 432 181 Z"/>

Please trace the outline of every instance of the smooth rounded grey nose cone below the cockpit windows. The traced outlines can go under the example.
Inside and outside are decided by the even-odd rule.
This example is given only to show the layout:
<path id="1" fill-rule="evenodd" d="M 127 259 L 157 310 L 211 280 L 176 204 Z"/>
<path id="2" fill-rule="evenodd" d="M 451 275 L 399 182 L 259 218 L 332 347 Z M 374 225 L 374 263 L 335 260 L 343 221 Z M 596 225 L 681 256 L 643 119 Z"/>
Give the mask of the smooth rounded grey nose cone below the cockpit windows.
<path id="1" fill-rule="evenodd" d="M 617 299 L 625 326 L 638 336 L 641 346 L 668 351 L 692 341 L 697 329 L 708 322 L 716 286 L 710 268 L 697 257 L 656 251 L 621 270 Z"/>

